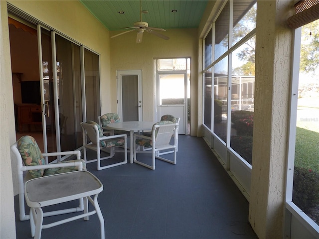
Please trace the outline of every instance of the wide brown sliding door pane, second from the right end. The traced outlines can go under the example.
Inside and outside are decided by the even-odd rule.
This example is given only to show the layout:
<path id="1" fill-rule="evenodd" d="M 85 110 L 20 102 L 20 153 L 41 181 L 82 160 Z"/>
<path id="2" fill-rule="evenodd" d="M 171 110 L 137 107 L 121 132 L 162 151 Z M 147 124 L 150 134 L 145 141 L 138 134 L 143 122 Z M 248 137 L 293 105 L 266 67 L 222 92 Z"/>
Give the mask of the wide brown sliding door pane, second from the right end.
<path id="1" fill-rule="evenodd" d="M 80 46 L 55 34 L 56 96 L 55 115 L 60 136 L 61 151 L 74 150 L 82 145 Z"/>

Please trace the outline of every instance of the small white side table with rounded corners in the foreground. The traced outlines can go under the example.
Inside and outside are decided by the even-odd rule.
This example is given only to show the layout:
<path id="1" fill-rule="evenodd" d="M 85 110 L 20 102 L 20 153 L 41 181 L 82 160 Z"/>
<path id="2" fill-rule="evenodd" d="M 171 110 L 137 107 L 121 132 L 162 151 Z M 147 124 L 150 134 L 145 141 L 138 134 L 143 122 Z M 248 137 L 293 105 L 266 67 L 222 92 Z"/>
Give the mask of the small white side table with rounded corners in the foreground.
<path id="1" fill-rule="evenodd" d="M 88 221 L 89 216 L 96 213 L 101 224 L 101 239 L 104 239 L 104 219 L 97 200 L 102 190 L 103 185 L 101 181 L 88 171 L 61 173 L 27 181 L 24 185 L 24 195 L 27 205 L 31 208 L 31 236 L 35 239 L 40 239 L 42 229 L 58 226 L 80 218 Z M 94 195 L 94 199 L 90 197 L 91 195 Z M 80 198 L 84 199 L 83 214 L 42 225 L 43 211 L 41 207 Z M 88 200 L 95 208 L 91 212 L 88 211 Z"/>

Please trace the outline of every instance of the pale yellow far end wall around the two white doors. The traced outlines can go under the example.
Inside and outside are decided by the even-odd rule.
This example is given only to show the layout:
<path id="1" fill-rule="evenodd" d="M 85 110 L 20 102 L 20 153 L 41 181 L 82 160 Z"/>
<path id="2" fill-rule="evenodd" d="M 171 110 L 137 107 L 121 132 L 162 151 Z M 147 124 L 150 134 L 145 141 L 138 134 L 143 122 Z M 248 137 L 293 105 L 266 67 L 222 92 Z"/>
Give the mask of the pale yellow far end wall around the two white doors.
<path id="1" fill-rule="evenodd" d="M 111 32 L 115 35 L 121 31 Z M 153 121 L 154 109 L 154 67 L 155 58 L 191 58 L 191 115 L 197 115 L 197 89 L 198 89 L 198 37 L 197 29 L 167 29 L 163 34 L 170 39 L 163 40 L 147 32 L 144 33 L 143 42 L 136 43 L 136 31 L 111 38 L 111 88 L 116 89 L 117 70 L 142 70 L 143 85 L 143 119 Z M 111 93 L 111 106 L 117 112 L 116 91 Z M 192 119 L 197 122 L 197 119 Z M 197 123 L 192 127 L 191 135 L 197 134 Z"/>

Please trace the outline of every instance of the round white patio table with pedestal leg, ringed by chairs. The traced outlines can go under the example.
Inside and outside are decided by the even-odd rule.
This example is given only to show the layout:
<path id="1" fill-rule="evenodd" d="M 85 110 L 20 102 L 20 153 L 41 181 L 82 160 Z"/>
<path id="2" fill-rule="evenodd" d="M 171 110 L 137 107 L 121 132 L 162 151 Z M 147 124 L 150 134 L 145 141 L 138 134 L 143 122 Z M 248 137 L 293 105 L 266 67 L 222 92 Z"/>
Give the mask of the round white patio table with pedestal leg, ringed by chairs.
<path id="1" fill-rule="evenodd" d="M 124 121 L 109 123 L 106 125 L 108 129 L 130 131 L 130 163 L 133 163 L 133 134 L 142 130 L 152 130 L 155 122 L 150 121 Z"/>

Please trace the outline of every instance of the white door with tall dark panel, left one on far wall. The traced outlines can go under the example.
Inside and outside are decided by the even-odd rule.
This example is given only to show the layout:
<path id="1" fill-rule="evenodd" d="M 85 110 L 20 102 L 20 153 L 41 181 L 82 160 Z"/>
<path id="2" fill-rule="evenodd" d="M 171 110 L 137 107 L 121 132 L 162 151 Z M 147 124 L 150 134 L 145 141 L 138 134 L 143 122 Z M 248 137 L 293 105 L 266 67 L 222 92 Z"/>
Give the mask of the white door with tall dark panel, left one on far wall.
<path id="1" fill-rule="evenodd" d="M 122 121 L 143 121 L 142 71 L 117 71 L 118 114 Z"/>

